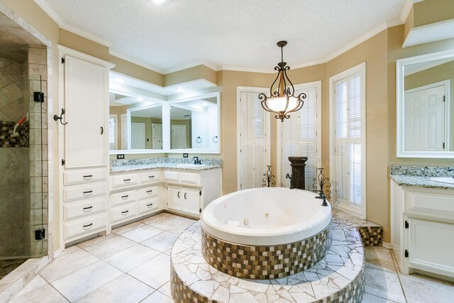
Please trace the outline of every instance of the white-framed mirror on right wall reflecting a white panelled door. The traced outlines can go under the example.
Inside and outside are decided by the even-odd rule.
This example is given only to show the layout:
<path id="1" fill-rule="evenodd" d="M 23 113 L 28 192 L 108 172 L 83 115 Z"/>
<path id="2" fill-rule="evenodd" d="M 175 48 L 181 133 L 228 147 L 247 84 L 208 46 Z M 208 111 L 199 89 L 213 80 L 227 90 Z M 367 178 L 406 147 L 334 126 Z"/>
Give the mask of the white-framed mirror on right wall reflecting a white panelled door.
<path id="1" fill-rule="evenodd" d="M 397 61 L 397 157 L 454 158 L 454 50 Z"/>

